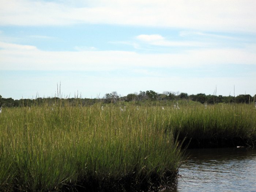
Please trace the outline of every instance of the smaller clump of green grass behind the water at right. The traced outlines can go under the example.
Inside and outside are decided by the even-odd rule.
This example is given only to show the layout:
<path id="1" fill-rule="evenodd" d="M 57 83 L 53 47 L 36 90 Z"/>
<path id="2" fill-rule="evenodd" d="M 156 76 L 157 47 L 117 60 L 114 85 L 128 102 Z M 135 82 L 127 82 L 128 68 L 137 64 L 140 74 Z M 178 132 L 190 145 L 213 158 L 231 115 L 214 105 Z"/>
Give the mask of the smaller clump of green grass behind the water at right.
<path id="1" fill-rule="evenodd" d="M 252 105 L 218 104 L 179 110 L 166 127 L 184 144 L 195 147 L 254 146 L 256 111 Z"/>

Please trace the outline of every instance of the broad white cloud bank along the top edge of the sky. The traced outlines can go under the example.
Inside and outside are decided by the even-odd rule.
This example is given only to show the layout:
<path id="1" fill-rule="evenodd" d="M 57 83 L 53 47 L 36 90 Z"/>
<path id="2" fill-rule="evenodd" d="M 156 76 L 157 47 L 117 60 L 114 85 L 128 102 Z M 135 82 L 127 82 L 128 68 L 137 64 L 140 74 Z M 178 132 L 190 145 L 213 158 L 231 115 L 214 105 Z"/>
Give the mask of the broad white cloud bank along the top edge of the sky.
<path id="1" fill-rule="evenodd" d="M 255 0 L 2 0 L 0 25 L 105 23 L 256 32 Z M 79 6 L 78 6 L 79 5 Z"/>

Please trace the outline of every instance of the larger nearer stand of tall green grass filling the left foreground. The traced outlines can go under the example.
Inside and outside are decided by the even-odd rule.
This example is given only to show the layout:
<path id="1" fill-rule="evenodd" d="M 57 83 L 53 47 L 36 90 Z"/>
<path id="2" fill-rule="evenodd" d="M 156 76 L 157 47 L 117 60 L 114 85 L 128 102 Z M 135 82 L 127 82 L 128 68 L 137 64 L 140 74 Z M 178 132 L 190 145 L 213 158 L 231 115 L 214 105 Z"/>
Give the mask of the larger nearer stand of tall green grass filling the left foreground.
<path id="1" fill-rule="evenodd" d="M 182 150 L 157 106 L 59 101 L 5 108 L 1 191 L 157 190 L 176 184 Z"/>

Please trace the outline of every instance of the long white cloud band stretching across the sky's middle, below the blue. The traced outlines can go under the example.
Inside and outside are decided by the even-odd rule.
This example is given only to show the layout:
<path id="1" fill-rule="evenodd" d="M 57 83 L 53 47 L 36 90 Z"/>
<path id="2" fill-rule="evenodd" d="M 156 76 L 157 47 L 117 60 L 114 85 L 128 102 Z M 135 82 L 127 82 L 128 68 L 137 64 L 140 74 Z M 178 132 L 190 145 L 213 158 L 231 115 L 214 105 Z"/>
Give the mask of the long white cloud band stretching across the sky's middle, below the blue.
<path id="1" fill-rule="evenodd" d="M 50 52 L 34 46 L 0 42 L 2 70 L 108 71 L 127 68 L 191 68 L 200 65 L 256 65 L 256 45 L 244 49 L 198 49 L 180 53 L 139 54 L 128 51 Z"/>

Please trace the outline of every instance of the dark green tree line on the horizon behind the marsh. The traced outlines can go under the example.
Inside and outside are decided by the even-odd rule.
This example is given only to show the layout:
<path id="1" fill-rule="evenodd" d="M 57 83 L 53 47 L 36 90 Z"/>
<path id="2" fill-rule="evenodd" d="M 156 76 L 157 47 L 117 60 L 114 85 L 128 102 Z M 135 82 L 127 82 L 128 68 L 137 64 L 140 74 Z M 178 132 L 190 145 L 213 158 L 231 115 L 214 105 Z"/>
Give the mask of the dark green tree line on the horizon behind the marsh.
<path id="1" fill-rule="evenodd" d="M 53 105 L 56 101 L 68 101 L 71 105 L 92 105 L 96 102 L 103 103 L 116 103 L 117 101 L 122 102 L 140 102 L 140 101 L 175 101 L 180 99 L 191 100 L 200 103 L 252 103 L 256 102 L 256 94 L 251 96 L 249 94 L 235 96 L 223 96 L 223 95 L 206 95 L 204 93 L 188 95 L 187 93 L 174 93 L 165 91 L 163 93 L 157 93 L 153 90 L 140 91 L 139 93 L 130 93 L 126 96 L 118 95 L 116 91 L 106 93 L 103 98 L 36 98 L 36 99 L 12 99 L 3 98 L 0 95 L 0 106 L 3 107 L 21 107 L 21 106 L 33 106 L 41 105 L 42 103 L 48 103 Z M 64 103 L 64 102 L 63 102 Z"/>

